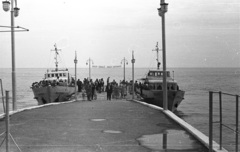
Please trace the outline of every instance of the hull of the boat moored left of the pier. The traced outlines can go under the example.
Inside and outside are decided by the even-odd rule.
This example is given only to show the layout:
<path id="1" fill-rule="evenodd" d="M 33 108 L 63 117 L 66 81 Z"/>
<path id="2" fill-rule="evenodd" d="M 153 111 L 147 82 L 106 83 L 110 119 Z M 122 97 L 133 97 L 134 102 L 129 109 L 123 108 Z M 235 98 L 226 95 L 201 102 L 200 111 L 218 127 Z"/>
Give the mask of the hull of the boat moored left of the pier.
<path id="1" fill-rule="evenodd" d="M 70 86 L 46 86 L 32 88 L 32 90 L 38 105 L 68 101 L 75 93 L 75 87 Z"/>

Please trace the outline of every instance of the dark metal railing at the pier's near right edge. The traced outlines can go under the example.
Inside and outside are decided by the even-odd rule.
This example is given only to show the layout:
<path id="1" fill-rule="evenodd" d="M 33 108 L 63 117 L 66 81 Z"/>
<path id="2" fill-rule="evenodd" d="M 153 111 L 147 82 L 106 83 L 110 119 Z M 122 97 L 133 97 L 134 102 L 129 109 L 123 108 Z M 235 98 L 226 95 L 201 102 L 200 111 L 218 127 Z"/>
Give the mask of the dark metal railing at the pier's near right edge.
<path id="1" fill-rule="evenodd" d="M 219 94 L 219 121 L 213 122 L 213 94 Z M 235 118 L 235 129 L 229 127 L 228 125 L 223 124 L 222 119 L 222 95 L 232 96 L 236 98 L 236 118 Z M 226 127 L 229 130 L 233 131 L 235 133 L 235 151 L 238 152 L 238 114 L 239 114 L 239 95 L 229 94 L 229 93 L 223 93 L 223 92 L 213 92 L 209 91 L 209 152 L 212 152 L 213 148 L 213 123 L 219 123 L 219 149 L 222 150 L 222 127 Z"/>

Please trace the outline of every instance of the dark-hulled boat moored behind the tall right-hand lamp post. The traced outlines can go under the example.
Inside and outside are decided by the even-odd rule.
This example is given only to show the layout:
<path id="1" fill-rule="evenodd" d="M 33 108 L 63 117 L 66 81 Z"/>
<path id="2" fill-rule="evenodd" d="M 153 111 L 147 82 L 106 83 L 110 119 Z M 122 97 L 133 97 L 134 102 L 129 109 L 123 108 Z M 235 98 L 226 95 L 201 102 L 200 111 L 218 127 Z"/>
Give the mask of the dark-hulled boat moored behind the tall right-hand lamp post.
<path id="1" fill-rule="evenodd" d="M 163 107 L 163 73 L 160 70 L 160 62 L 157 51 L 157 68 L 150 69 L 144 78 L 137 80 L 136 92 L 140 95 L 144 102 Z M 179 89 L 178 83 L 170 75 L 170 71 L 166 71 L 167 82 L 167 101 L 168 109 L 172 112 L 176 111 L 180 103 L 184 99 L 185 91 Z"/>

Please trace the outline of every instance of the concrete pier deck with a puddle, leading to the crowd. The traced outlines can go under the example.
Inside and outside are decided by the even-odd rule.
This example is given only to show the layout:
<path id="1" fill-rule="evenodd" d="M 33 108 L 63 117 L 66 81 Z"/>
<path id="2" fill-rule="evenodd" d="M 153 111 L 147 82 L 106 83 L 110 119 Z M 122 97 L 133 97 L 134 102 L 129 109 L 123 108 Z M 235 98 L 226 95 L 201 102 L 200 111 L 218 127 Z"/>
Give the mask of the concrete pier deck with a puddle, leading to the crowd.
<path id="1" fill-rule="evenodd" d="M 43 106 L 15 113 L 10 121 L 11 135 L 23 152 L 208 151 L 161 111 L 127 100 Z M 2 119 L 0 133 L 4 131 Z M 18 151 L 12 141 L 10 151 Z"/>

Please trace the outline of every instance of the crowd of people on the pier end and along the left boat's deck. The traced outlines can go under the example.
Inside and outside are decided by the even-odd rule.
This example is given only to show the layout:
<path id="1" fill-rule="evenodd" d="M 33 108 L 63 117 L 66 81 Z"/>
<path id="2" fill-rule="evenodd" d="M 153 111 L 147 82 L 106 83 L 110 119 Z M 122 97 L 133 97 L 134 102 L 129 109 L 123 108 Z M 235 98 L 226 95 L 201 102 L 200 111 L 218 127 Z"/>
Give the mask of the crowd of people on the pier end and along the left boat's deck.
<path id="1" fill-rule="evenodd" d="M 89 101 L 96 100 L 97 94 L 102 92 L 107 93 L 107 100 L 113 99 L 124 99 L 128 92 L 132 92 L 132 81 L 128 82 L 125 80 L 120 80 L 116 82 L 114 79 L 110 82 L 110 78 L 104 82 L 103 78 L 100 79 L 89 79 L 84 78 L 82 81 L 78 79 L 76 81 L 78 92 L 82 94 L 83 100 L 85 98 Z M 32 88 L 41 88 L 47 86 L 75 86 L 75 79 L 72 77 L 71 80 L 42 80 L 40 82 L 32 83 Z M 135 85 L 137 86 L 137 85 Z"/>

